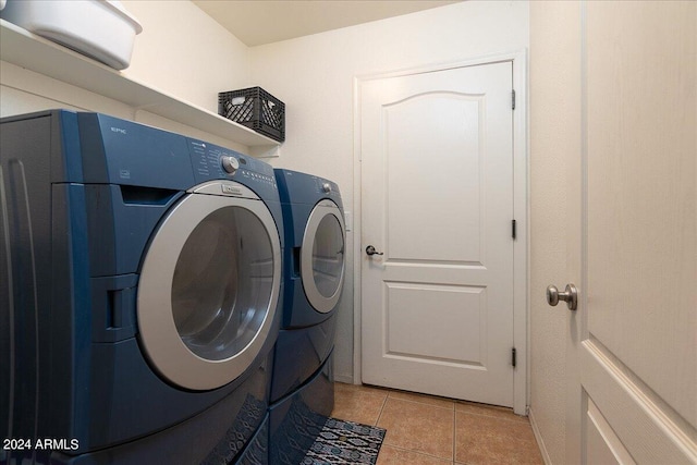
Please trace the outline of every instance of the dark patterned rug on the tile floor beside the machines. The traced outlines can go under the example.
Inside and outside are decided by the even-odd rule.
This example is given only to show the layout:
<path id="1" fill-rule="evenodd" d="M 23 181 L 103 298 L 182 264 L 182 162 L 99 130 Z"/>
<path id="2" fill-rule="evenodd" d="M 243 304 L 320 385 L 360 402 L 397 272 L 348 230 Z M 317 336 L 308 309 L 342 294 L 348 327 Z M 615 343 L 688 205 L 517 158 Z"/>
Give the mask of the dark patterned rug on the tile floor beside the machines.
<path id="1" fill-rule="evenodd" d="M 328 418 L 301 465 L 375 464 L 386 432 L 382 428 Z"/>

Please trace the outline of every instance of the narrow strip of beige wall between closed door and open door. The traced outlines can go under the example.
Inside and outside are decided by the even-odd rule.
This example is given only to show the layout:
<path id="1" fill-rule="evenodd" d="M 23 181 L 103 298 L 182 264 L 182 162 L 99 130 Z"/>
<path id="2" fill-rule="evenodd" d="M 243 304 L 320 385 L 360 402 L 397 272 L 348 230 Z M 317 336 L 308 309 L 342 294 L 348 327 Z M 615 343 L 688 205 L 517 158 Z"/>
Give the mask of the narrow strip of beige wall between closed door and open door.
<path id="1" fill-rule="evenodd" d="M 530 419 L 554 464 L 565 461 L 570 335 L 565 307 L 547 305 L 545 290 L 567 274 L 564 186 L 580 150 L 579 57 L 579 3 L 530 2 Z"/>

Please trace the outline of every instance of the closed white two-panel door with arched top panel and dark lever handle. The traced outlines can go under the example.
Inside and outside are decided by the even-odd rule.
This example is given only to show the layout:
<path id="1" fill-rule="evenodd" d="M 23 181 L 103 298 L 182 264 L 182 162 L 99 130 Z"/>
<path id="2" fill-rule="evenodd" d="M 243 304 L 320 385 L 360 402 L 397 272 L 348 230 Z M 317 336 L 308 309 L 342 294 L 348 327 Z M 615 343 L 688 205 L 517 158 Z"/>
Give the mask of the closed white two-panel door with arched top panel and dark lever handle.
<path id="1" fill-rule="evenodd" d="M 512 75 L 360 84 L 366 383 L 513 405 Z"/>

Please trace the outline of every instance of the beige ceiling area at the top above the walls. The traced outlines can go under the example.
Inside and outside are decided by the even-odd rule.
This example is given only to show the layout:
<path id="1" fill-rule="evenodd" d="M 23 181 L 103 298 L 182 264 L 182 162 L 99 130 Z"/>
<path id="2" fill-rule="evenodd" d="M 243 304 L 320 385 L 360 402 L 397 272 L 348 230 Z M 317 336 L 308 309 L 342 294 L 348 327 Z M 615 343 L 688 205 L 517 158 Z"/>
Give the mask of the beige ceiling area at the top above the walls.
<path id="1" fill-rule="evenodd" d="M 193 0 L 249 47 L 399 16 L 462 0 Z"/>

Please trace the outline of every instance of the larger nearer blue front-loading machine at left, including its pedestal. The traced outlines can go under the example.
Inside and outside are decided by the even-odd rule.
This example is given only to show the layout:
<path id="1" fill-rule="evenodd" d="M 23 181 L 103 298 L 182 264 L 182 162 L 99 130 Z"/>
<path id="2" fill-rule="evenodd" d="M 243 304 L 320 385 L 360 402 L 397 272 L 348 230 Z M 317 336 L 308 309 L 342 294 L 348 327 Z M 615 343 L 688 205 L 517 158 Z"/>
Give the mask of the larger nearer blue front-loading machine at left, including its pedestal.
<path id="1" fill-rule="evenodd" d="M 0 129 L 0 462 L 266 463 L 271 167 L 97 113 Z"/>

